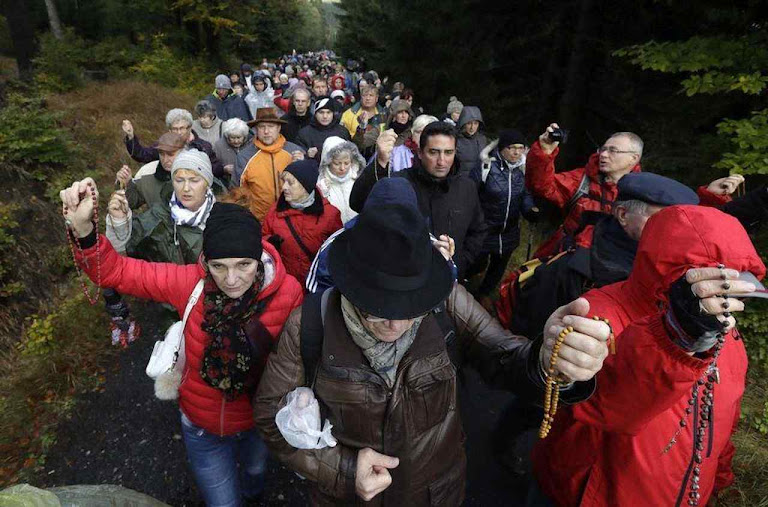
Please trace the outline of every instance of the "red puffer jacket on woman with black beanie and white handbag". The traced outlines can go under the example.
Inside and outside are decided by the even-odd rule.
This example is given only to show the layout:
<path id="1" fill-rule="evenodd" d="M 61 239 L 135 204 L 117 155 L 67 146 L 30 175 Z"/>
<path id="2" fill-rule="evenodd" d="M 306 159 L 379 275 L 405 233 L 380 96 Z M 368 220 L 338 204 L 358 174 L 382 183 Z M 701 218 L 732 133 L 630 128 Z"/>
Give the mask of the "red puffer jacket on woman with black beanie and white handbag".
<path id="1" fill-rule="evenodd" d="M 268 302 L 259 320 L 277 341 L 288 315 L 301 305 L 304 293 L 296 279 L 286 273 L 274 247 L 267 242 L 263 246 L 266 278 L 259 300 L 268 298 Z M 102 287 L 116 289 L 120 294 L 171 304 L 179 312 L 179 319 L 184 316 L 195 285 L 205 277 L 201 264 L 179 266 L 118 255 L 103 235 L 99 236 L 98 247 L 101 250 Z M 80 262 L 80 265 L 94 280 L 98 266 L 96 246 L 85 250 L 84 255 L 88 262 Z M 243 394 L 227 401 L 221 391 L 209 386 L 200 377 L 203 352 L 210 340 L 201 327 L 203 299 L 201 297 L 190 312 L 184 330 L 187 362 L 179 388 L 179 404 L 184 414 L 197 426 L 216 435 L 232 435 L 253 428 L 251 397 Z"/>

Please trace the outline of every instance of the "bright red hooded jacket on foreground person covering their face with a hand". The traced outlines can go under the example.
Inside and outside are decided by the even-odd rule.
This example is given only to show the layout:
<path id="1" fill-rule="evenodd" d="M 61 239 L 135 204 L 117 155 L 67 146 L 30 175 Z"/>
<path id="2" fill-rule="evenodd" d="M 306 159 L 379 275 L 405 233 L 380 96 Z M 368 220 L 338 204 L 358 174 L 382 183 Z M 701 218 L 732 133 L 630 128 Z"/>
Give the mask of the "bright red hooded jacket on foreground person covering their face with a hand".
<path id="1" fill-rule="evenodd" d="M 671 341 L 658 308 L 666 304 L 668 287 L 688 269 L 721 262 L 758 278 L 765 274 L 735 218 L 713 208 L 674 206 L 648 221 L 629 279 L 585 295 L 590 316 L 610 320 L 616 355 L 598 374 L 595 395 L 563 407 L 549 436 L 534 448 L 539 485 L 557 505 L 688 504 L 691 417 L 677 443 L 667 453 L 664 449 L 710 361 L 689 356 Z M 738 332 L 727 335 L 717 367 L 720 383 L 714 386 L 702 452 L 699 505 L 733 481 L 730 435 L 747 371 Z"/>

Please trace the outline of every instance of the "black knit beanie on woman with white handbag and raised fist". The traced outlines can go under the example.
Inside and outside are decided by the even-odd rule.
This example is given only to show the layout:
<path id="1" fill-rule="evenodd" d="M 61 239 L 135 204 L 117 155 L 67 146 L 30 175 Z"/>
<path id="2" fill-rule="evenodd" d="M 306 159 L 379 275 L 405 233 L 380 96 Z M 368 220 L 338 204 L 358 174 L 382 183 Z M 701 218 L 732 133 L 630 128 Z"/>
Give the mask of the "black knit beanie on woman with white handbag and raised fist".
<path id="1" fill-rule="evenodd" d="M 206 260 L 261 259 L 261 224 L 246 208 L 217 202 L 205 222 L 203 254 Z"/>

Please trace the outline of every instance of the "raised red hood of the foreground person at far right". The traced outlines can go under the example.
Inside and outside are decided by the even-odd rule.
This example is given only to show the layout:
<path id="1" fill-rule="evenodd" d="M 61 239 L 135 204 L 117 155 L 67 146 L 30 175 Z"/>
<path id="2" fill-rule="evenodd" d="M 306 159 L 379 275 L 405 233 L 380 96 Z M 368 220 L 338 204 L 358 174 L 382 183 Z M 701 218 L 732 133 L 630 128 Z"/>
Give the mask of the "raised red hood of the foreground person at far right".
<path id="1" fill-rule="evenodd" d="M 765 276 L 765 265 L 736 218 L 705 206 L 670 206 L 645 225 L 625 288 L 652 310 L 686 271 L 718 264 Z"/>

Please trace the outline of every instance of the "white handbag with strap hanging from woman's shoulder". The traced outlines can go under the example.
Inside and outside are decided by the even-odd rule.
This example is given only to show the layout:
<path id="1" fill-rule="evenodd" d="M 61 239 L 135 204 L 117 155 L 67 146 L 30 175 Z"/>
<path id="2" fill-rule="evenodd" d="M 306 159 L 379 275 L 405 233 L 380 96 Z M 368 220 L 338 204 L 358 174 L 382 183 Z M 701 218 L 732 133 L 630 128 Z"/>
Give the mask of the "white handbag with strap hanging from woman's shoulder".
<path id="1" fill-rule="evenodd" d="M 203 292 L 204 285 L 204 279 L 197 282 L 195 290 L 189 296 L 187 308 L 184 310 L 184 319 L 169 327 L 165 332 L 165 338 L 156 341 L 152 349 L 146 373 L 150 378 L 155 379 L 155 396 L 161 400 L 175 400 L 179 397 L 181 376 L 186 363 L 184 327 L 187 325 L 189 313 Z"/>

